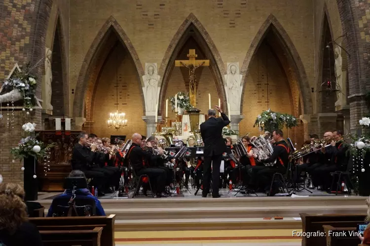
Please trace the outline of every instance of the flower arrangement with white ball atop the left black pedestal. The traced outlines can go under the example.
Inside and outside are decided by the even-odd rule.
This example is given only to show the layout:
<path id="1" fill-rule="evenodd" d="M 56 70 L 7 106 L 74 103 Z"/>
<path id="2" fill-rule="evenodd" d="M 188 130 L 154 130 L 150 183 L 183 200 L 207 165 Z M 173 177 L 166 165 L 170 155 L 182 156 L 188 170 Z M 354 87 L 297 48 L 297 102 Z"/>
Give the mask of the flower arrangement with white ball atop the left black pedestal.
<path id="1" fill-rule="evenodd" d="M 46 150 L 53 147 L 53 144 L 45 146 L 43 142 L 38 141 L 37 135 L 31 136 L 33 132 L 35 132 L 35 123 L 26 123 L 22 125 L 22 129 L 26 133 L 26 137 L 22 138 L 18 146 L 12 148 L 10 153 L 14 156 L 15 159 L 23 159 L 30 156 L 35 157 L 43 157 L 46 154 Z"/>

